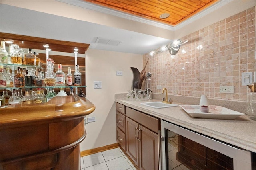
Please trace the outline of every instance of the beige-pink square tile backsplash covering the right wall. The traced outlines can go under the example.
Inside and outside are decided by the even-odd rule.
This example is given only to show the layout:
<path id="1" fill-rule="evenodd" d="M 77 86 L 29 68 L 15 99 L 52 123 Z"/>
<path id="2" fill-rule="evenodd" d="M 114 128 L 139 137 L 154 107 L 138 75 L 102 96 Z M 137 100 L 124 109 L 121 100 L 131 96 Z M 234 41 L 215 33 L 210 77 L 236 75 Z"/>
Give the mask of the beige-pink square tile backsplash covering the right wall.
<path id="1" fill-rule="evenodd" d="M 151 90 L 157 85 L 168 94 L 247 101 L 248 88 L 242 86 L 242 72 L 255 72 L 256 6 L 181 37 L 188 43 L 176 55 L 169 51 L 151 57 L 146 72 L 151 72 Z M 158 49 L 160 50 L 160 49 Z M 234 94 L 220 93 L 220 86 L 234 86 Z"/>

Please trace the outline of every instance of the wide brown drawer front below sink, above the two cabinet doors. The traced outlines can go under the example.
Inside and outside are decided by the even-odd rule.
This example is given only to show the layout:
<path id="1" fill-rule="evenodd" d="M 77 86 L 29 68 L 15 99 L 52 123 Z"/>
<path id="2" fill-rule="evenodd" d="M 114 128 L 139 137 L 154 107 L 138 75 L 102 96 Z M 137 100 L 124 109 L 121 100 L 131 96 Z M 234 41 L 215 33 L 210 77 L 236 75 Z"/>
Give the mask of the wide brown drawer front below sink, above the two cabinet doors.
<path id="1" fill-rule="evenodd" d="M 155 117 L 131 109 L 129 107 L 126 108 L 126 115 L 144 127 L 154 131 L 155 133 L 158 133 L 158 130 L 160 129 L 160 121 Z"/>

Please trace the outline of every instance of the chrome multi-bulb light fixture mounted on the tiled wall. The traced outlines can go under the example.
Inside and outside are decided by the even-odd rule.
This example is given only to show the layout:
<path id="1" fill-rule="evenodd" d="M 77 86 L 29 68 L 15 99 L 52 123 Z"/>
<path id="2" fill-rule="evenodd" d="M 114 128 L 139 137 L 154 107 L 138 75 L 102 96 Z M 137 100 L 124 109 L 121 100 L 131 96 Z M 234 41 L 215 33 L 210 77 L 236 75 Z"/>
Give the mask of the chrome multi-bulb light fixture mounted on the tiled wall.
<path id="1" fill-rule="evenodd" d="M 171 55 L 176 55 L 177 53 L 178 53 L 178 51 L 180 50 L 180 45 L 182 45 L 182 44 L 185 44 L 185 43 L 187 43 L 188 42 L 188 40 L 186 40 L 186 41 L 180 41 L 180 39 L 178 39 L 178 40 L 175 40 L 175 41 L 173 41 L 170 45 L 164 45 L 164 46 L 162 46 L 161 47 L 161 50 L 160 51 L 151 51 L 150 53 L 149 53 L 149 55 L 150 56 L 153 56 L 153 55 L 155 55 L 155 54 L 157 54 L 157 53 L 161 53 L 161 52 L 163 52 L 163 51 L 166 51 L 166 50 L 169 50 L 169 53 L 171 54 Z"/>

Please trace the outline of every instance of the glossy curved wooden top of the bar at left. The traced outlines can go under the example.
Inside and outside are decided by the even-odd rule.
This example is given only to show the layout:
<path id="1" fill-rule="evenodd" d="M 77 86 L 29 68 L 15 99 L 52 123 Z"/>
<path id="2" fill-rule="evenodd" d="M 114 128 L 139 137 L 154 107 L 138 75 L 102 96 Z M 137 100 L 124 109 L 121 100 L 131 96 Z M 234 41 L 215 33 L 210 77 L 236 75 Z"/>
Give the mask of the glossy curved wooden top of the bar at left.
<path id="1" fill-rule="evenodd" d="M 56 96 L 42 104 L 10 105 L 0 109 L 0 129 L 42 123 L 54 123 L 84 117 L 95 110 L 86 98 Z"/>

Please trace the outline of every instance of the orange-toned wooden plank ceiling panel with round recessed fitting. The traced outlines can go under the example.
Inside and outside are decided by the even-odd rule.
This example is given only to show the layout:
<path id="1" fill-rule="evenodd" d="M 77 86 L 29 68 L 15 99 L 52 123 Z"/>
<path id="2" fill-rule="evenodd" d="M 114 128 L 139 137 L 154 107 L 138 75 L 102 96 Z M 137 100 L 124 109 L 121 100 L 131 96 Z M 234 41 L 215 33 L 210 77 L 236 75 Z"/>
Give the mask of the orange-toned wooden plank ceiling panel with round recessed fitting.
<path id="1" fill-rule="evenodd" d="M 218 0 L 84 0 L 149 20 L 175 26 Z M 160 18 L 168 13 L 168 18 Z"/>

